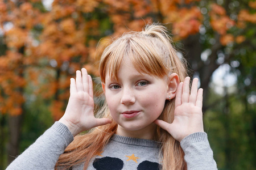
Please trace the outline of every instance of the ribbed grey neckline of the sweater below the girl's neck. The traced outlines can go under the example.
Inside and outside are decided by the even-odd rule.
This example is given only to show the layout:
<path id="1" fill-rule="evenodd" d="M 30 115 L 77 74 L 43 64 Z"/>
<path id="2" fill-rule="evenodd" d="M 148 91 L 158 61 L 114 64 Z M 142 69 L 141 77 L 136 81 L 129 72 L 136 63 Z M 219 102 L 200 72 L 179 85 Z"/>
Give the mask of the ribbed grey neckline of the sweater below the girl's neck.
<path id="1" fill-rule="evenodd" d="M 112 141 L 124 143 L 126 145 L 136 145 L 136 146 L 143 146 L 143 147 L 159 148 L 159 142 L 152 141 L 149 139 L 123 137 L 123 136 L 117 135 L 117 134 L 114 134 L 112 136 Z"/>

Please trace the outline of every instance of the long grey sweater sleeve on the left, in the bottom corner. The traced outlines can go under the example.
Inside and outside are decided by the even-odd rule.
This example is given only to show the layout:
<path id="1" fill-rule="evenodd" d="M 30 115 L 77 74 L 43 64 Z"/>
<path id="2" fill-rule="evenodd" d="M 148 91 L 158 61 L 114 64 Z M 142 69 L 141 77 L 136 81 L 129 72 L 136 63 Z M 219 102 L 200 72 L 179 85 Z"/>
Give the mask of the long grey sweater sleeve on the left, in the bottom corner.
<path id="1" fill-rule="evenodd" d="M 73 141 L 67 126 L 55 122 L 35 143 L 18 156 L 6 170 L 54 169 L 59 156 Z"/>

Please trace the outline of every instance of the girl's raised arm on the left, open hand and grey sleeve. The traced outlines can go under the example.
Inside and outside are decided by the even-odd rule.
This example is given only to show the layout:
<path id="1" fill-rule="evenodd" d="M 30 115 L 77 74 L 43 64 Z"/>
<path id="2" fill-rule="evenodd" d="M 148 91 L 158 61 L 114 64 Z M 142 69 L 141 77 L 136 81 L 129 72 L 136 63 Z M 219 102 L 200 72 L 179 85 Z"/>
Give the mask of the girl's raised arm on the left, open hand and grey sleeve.
<path id="1" fill-rule="evenodd" d="M 59 156 L 81 131 L 111 122 L 93 114 L 92 78 L 85 69 L 71 78 L 70 97 L 64 116 L 55 122 L 34 144 L 27 148 L 7 169 L 53 169 Z"/>

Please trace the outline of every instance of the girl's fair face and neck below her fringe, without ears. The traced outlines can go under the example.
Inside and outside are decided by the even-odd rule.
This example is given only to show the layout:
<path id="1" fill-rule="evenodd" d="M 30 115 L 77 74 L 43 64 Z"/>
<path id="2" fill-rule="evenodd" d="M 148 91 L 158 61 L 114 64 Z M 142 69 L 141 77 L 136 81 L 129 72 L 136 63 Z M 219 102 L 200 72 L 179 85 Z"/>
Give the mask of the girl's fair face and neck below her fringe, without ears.
<path id="1" fill-rule="evenodd" d="M 156 125 L 168 99 L 168 80 L 157 76 L 140 74 L 130 59 L 123 61 L 118 80 L 106 73 L 104 89 L 110 114 L 118 124 L 117 134 L 152 139 Z"/>

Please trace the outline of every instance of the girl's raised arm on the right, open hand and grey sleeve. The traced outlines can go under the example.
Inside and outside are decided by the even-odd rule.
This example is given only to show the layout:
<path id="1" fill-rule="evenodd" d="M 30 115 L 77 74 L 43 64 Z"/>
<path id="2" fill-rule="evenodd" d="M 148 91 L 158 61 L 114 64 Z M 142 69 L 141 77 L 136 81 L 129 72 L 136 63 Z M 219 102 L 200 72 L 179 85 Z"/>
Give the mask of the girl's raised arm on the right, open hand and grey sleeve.
<path id="1" fill-rule="evenodd" d="M 213 152 L 209 146 L 203 126 L 203 89 L 197 90 L 198 79 L 193 79 L 191 92 L 187 77 L 176 91 L 174 121 L 171 124 L 162 120 L 155 123 L 168 131 L 185 152 L 188 169 L 217 169 Z"/>

